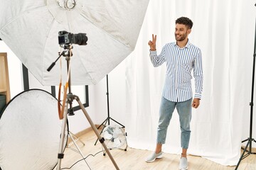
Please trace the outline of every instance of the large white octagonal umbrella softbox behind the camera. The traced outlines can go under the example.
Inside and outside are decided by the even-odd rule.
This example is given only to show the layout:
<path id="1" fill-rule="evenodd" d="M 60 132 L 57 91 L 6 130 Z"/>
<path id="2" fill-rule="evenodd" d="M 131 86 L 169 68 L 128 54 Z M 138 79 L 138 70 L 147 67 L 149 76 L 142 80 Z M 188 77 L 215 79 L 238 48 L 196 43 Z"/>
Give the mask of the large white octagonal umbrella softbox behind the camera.
<path id="1" fill-rule="evenodd" d="M 66 64 L 58 57 L 58 32 L 86 33 L 73 45 L 73 85 L 96 84 L 133 50 L 149 0 L 0 0 L 0 38 L 43 85 L 58 85 Z M 9 8 L 10 10 L 6 10 Z M 67 81 L 63 77 L 63 84 Z"/>

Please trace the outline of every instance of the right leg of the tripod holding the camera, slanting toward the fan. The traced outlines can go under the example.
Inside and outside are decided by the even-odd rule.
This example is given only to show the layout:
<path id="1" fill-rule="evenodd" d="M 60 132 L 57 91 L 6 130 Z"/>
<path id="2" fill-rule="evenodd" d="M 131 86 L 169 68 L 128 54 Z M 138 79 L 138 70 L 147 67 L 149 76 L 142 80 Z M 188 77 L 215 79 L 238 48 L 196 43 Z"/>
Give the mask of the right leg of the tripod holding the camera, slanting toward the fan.
<path id="1" fill-rule="evenodd" d="M 87 111 L 85 110 L 84 106 L 82 105 L 80 99 L 78 98 L 78 96 L 75 96 L 75 99 L 76 101 L 78 101 L 78 104 L 80 106 L 80 108 L 82 109 L 82 112 L 85 114 L 85 117 L 87 118 L 87 120 L 89 121 L 91 127 L 92 127 L 92 130 L 94 130 L 95 134 L 97 135 L 98 139 L 100 140 L 102 146 L 105 148 L 105 151 L 107 152 L 108 156 L 110 157 L 112 163 L 114 164 L 114 167 L 119 170 L 118 166 L 117 166 L 117 163 L 114 162 L 114 159 L 112 157 L 112 155 L 110 154 L 110 151 L 107 149 L 107 146 L 105 145 L 104 143 L 104 138 L 102 138 L 100 136 L 100 133 L 98 132 L 97 128 L 95 127 L 95 125 L 92 123 L 92 120 L 90 118 L 90 116 L 88 115 Z"/>

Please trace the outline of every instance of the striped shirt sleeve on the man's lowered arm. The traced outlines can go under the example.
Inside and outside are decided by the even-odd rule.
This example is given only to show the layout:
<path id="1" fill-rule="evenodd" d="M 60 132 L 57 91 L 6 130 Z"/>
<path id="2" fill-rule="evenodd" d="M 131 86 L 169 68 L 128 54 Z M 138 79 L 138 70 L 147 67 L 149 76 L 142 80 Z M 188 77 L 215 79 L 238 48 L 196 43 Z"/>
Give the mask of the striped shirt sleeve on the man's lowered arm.
<path id="1" fill-rule="evenodd" d="M 198 50 L 196 59 L 193 62 L 193 77 L 195 78 L 196 87 L 196 94 L 194 97 L 201 99 L 203 91 L 203 67 L 201 50 Z"/>

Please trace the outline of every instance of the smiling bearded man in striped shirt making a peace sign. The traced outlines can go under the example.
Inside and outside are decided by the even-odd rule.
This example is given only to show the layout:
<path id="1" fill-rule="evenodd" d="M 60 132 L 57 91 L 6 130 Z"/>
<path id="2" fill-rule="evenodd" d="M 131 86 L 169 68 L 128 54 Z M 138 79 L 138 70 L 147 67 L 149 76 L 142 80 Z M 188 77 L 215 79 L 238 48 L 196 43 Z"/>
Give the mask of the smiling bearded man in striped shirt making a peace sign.
<path id="1" fill-rule="evenodd" d="M 156 53 L 156 35 L 149 40 L 150 59 L 154 67 L 166 62 L 166 80 L 161 98 L 159 111 L 159 126 L 157 128 L 157 140 L 155 151 L 146 158 L 146 162 L 154 162 L 161 158 L 161 147 L 166 140 L 166 132 L 172 113 L 176 108 L 181 125 L 181 160 L 179 169 L 188 169 L 186 153 L 190 139 L 190 121 L 192 107 L 198 108 L 203 90 L 203 69 L 201 50 L 192 45 L 188 40 L 193 22 L 186 17 L 176 20 L 175 38 L 176 42 L 167 43 L 161 50 L 160 55 Z M 195 79 L 195 95 L 192 101 L 191 71 Z M 192 106 L 192 107 L 191 107 Z"/>

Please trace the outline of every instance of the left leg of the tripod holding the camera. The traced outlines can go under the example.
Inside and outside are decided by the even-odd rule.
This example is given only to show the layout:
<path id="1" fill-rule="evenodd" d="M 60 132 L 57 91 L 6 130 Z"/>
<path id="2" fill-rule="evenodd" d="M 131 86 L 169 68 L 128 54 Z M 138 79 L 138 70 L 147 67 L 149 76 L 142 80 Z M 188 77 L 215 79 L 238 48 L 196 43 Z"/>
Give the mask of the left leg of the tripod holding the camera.
<path id="1" fill-rule="evenodd" d="M 66 105 L 65 105 L 65 110 L 63 113 L 63 125 L 61 129 L 61 135 L 60 135 L 60 146 L 59 146 L 59 152 L 58 152 L 58 164 L 57 164 L 57 170 L 60 170 L 60 164 L 61 164 L 61 159 L 63 159 L 64 154 L 63 154 L 63 149 L 64 149 L 64 139 L 65 139 L 65 129 L 67 125 L 67 113 L 68 113 L 68 98 L 66 99 Z"/>

